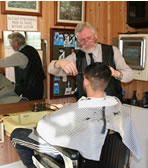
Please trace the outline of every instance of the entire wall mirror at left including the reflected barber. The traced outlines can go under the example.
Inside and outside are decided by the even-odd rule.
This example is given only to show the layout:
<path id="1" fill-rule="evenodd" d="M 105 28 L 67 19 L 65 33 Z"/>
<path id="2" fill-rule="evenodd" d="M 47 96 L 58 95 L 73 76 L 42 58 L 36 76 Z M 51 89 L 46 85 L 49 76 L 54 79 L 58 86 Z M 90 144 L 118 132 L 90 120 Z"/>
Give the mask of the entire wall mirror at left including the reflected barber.
<path id="1" fill-rule="evenodd" d="M 24 35 L 29 35 L 29 38 Z M 34 41 L 31 37 L 35 36 L 38 38 L 36 46 L 35 43 L 31 45 Z M 41 43 L 41 33 L 35 32 L 30 36 L 27 32 L 4 31 L 3 42 L 5 58 L 0 59 L 0 68 L 5 68 L 5 75 L 0 73 L 0 104 L 45 99 L 46 43 L 43 40 Z M 23 57 L 25 65 L 21 65 Z"/>

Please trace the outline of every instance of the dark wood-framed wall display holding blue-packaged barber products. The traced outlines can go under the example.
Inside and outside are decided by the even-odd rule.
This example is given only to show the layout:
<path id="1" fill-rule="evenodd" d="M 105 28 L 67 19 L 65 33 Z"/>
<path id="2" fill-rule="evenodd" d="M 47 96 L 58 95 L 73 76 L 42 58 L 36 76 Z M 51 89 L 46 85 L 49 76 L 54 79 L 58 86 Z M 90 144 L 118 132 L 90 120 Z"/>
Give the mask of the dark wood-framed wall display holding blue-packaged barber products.
<path id="1" fill-rule="evenodd" d="M 79 50 L 74 29 L 50 29 L 50 59 L 61 60 L 70 55 L 74 50 Z M 58 77 L 50 75 L 50 98 L 64 98 L 73 96 L 75 92 L 75 77 Z"/>

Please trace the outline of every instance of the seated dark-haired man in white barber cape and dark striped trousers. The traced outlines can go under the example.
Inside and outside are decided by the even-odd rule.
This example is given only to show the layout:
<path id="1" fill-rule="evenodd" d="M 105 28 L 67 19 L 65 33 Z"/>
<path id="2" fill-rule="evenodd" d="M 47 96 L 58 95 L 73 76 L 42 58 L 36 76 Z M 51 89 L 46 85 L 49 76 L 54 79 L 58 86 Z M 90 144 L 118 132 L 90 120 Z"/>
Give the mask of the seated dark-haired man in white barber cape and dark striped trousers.
<path id="1" fill-rule="evenodd" d="M 28 168 L 35 168 L 34 150 L 62 161 L 60 152 L 52 145 L 78 150 L 84 158 L 99 161 L 108 130 L 118 132 L 131 152 L 141 157 L 129 116 L 118 98 L 104 92 L 110 78 L 108 66 L 99 62 L 89 65 L 83 81 L 87 97 L 44 116 L 36 128 L 42 140 L 32 139 L 29 129 L 17 128 L 12 132 L 11 141 Z"/>

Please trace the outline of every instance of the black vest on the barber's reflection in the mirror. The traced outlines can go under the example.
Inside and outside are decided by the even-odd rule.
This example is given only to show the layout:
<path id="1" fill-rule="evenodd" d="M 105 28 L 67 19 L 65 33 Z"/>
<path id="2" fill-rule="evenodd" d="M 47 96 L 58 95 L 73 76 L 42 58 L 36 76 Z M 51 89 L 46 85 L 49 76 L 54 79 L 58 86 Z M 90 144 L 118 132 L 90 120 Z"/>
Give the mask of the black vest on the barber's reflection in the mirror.
<path id="1" fill-rule="evenodd" d="M 29 100 L 42 99 L 45 74 L 40 56 L 36 49 L 29 45 L 22 48 L 20 52 L 28 58 L 29 62 L 25 69 L 15 67 L 15 92 Z"/>

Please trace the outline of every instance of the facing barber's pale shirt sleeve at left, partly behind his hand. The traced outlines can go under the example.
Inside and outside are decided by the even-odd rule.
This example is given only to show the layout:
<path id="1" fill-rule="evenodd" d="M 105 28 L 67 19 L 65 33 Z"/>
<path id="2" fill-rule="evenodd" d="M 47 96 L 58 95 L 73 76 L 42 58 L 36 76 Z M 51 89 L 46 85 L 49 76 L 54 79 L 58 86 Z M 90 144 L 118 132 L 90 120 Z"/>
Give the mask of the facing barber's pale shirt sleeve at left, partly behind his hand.
<path id="1" fill-rule="evenodd" d="M 76 54 L 72 53 L 65 59 L 72 61 L 76 65 Z M 52 60 L 48 65 L 48 72 L 56 76 L 66 76 L 66 73 L 61 68 L 55 67 L 56 60 Z"/>

